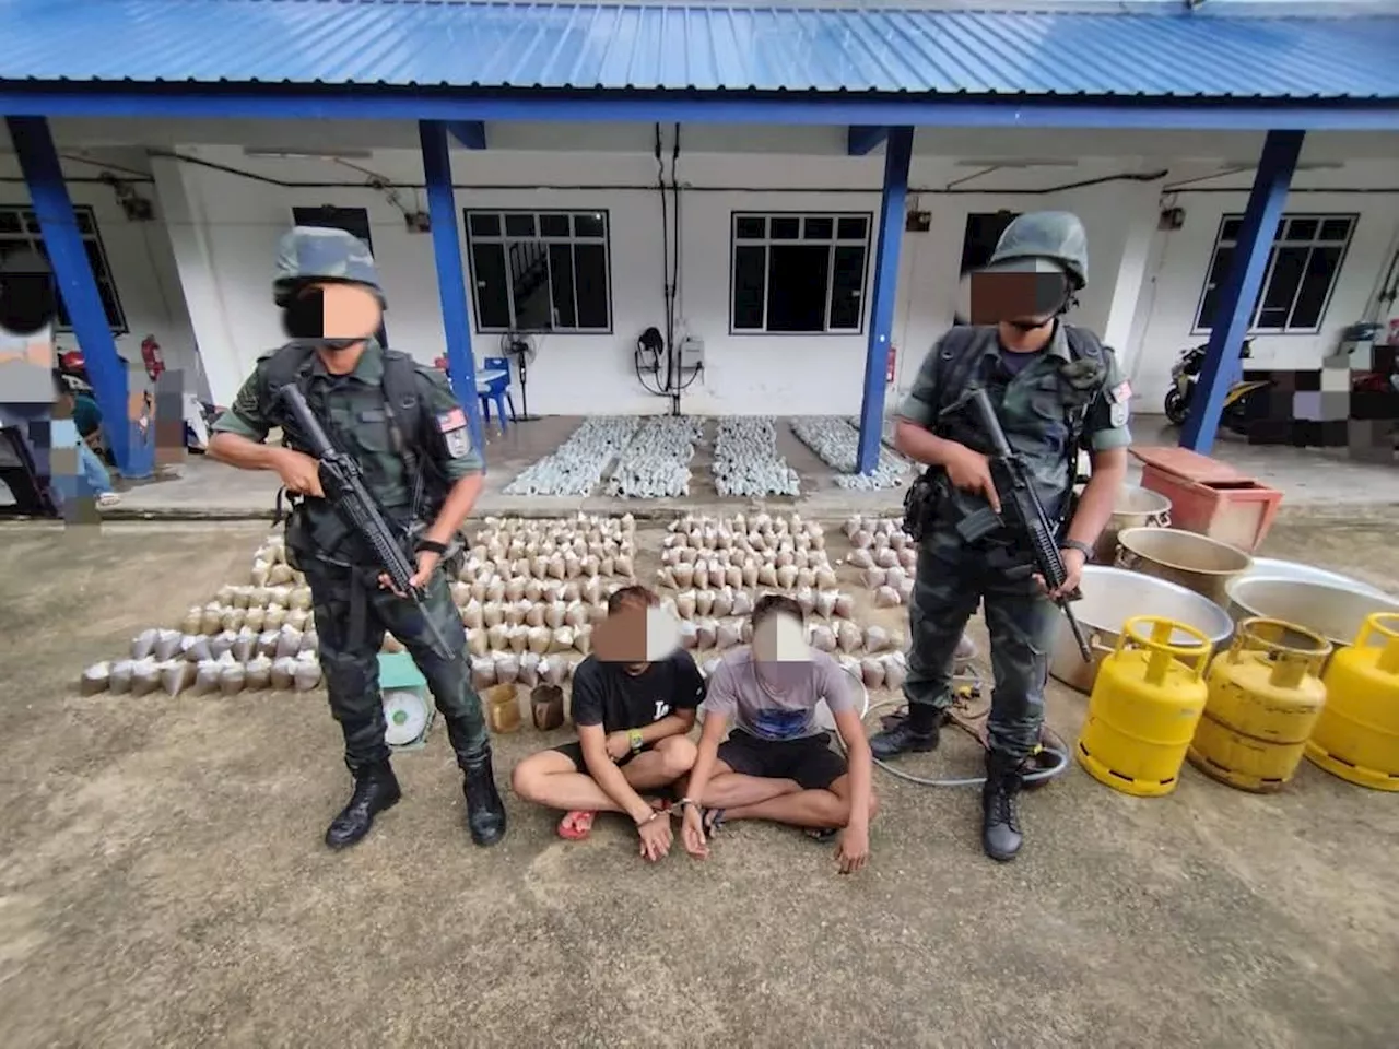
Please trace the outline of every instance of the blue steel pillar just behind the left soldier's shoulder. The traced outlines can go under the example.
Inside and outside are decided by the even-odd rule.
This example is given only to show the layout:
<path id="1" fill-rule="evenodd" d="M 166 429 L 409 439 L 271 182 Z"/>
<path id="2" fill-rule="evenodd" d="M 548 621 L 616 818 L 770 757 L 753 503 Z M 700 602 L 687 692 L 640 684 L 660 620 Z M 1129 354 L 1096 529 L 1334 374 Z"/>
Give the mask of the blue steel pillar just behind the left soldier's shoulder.
<path id="1" fill-rule="evenodd" d="M 456 224 L 456 196 L 452 192 L 448 127 L 441 120 L 418 120 L 418 138 L 422 143 L 422 173 L 428 183 L 428 215 L 432 218 L 432 255 L 436 259 L 446 362 L 452 372 L 452 389 L 471 421 L 471 441 L 481 455 L 481 462 L 485 462 L 481 401 L 476 394 L 476 358 L 471 355 L 471 319 L 466 306 L 466 270 L 462 266 L 462 238 Z"/>

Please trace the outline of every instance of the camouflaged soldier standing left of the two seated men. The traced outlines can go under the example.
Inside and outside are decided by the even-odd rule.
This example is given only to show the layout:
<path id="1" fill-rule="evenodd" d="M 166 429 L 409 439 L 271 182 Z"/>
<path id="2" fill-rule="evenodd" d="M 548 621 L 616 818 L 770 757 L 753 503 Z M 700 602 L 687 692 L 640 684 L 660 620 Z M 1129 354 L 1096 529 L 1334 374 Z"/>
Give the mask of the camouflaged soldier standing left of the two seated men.
<path id="1" fill-rule="evenodd" d="M 383 292 L 369 249 L 339 229 L 297 228 L 277 255 L 274 299 L 291 343 L 263 354 L 238 399 L 215 424 L 208 453 L 245 470 L 276 470 L 301 495 L 287 522 L 288 559 L 306 575 L 320 639 L 330 711 L 354 776 L 350 803 L 326 831 L 330 848 L 368 834 L 376 813 L 397 803 L 389 764 L 378 653 L 385 631 L 413 656 L 446 722 L 464 772 L 467 825 L 477 845 L 505 834 L 481 701 L 464 659 L 466 635 L 441 568 L 481 490 L 481 457 L 445 379 L 385 350 L 378 330 Z M 386 520 L 411 541 L 413 583 L 424 613 L 388 587 L 371 551 L 323 498 L 316 460 L 283 410 L 283 386 L 301 387 L 330 439 L 353 456 Z M 263 443 L 280 427 L 283 448 Z"/>

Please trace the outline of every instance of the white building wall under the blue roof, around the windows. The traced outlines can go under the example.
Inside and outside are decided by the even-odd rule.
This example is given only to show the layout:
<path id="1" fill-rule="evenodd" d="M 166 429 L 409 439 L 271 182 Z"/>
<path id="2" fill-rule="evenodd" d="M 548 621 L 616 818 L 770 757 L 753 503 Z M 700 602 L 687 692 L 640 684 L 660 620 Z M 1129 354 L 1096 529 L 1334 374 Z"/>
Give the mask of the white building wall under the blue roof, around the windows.
<path id="1" fill-rule="evenodd" d="M 133 122 L 134 123 L 134 122 Z M 141 190 L 157 197 L 157 222 L 129 222 L 112 192 L 74 185 L 76 201 L 92 203 L 108 256 L 116 271 L 132 336 L 123 352 L 139 358 L 141 336 L 154 333 L 171 366 L 189 364 L 193 343 L 189 316 L 200 336 L 214 399 L 227 403 L 236 378 L 256 357 L 283 341 L 270 299 L 273 253 L 291 220 L 292 207 L 362 207 L 368 210 L 374 249 L 389 298 L 386 326 L 395 347 L 432 361 L 443 352 L 441 309 L 431 236 L 410 234 L 400 211 L 383 193 L 364 185 L 372 172 L 390 183 L 421 183 L 416 129 L 354 126 L 337 136 L 333 124 L 155 124 L 122 130 L 113 122 L 59 127 L 60 143 L 144 141 L 173 150 L 196 164 L 147 161 L 155 185 Z M 201 134 L 204 144 L 179 144 Z M 125 137 L 123 137 L 125 136 Z M 133 138 L 133 136 L 140 136 Z M 211 145 L 222 136 L 239 144 Z M 646 126 L 497 126 L 491 148 L 453 148 L 457 211 L 476 207 L 606 208 L 610 213 L 611 334 L 546 334 L 537 337 L 539 361 L 530 371 L 530 410 L 541 414 L 648 413 L 665 401 L 644 392 L 632 371 L 637 336 L 663 327 L 662 220 L 653 189 L 653 131 Z M 1091 283 L 1070 319 L 1118 343 L 1133 376 L 1139 410 L 1158 410 L 1177 352 L 1202 341 L 1191 334 L 1195 306 L 1210 262 L 1219 218 L 1241 211 L 1247 189 L 1237 193 L 1181 192 L 1163 197 L 1164 185 L 1216 173 L 1214 161 L 1181 161 L 1161 155 L 1249 158 L 1258 143 L 1248 136 L 1177 136 L 1156 157 L 1143 155 L 1163 136 L 1077 136 L 1023 133 L 921 131 L 911 172 L 909 208 L 932 214 L 926 234 L 905 234 L 894 309 L 898 366 L 888 404 L 912 383 L 928 347 L 946 330 L 957 304 L 963 236 L 968 214 L 1000 208 L 1076 211 L 1088 232 Z M 390 143 L 368 159 L 255 158 L 242 143 L 288 150 L 329 148 L 337 143 Z M 1247 141 L 1245 141 L 1247 140 Z M 670 137 L 665 157 L 669 169 Z M 734 210 L 832 210 L 879 213 L 883 155 L 844 155 L 844 129 L 684 129 L 679 178 L 681 193 L 681 331 L 705 341 L 704 378 L 690 386 L 683 407 L 691 413 L 851 413 L 859 408 L 869 319 L 858 336 L 730 336 L 730 213 Z M 63 148 L 63 147 L 60 147 Z M 1098 155 L 1083 155 L 1093 150 Z M 69 152 L 67 148 L 63 150 Z M 1119 155 L 1111 155 L 1114 151 Z M 1129 152 L 1135 151 L 1135 152 Z M 127 151 L 133 152 L 133 151 Z M 937 155 L 943 154 L 943 155 Z M 1000 169 L 968 180 L 978 166 L 957 157 L 1070 157 L 1067 166 Z M 1335 159 L 1333 150 L 1326 152 Z M 285 189 L 206 165 L 225 165 L 283 182 L 337 183 L 332 187 Z M 1118 175 L 1160 172 L 1163 179 L 1102 182 L 1052 193 L 1067 183 Z M 1371 187 L 1393 183 L 1392 161 L 1360 161 L 1344 171 L 1302 172 L 1298 185 Z M 69 173 L 91 175 L 91 166 L 66 162 Z M 13 157 L 0 157 L 0 173 L 18 171 Z M 1217 178 L 1205 186 L 1247 186 L 1248 173 Z M 961 183 L 951 190 L 950 183 Z M 569 186 L 623 189 L 568 189 Z M 554 186 L 555 189 L 540 189 Z M 741 187 L 741 189 L 740 189 Z M 971 192 L 975 187 L 975 192 Z M 425 210 L 421 190 L 400 190 L 403 203 Z M 24 199 L 22 182 L 8 183 L 7 199 Z M 1184 207 L 1179 231 L 1157 231 L 1164 204 Z M 1277 336 L 1255 341 L 1258 366 L 1318 368 L 1336 334 L 1357 319 L 1370 299 L 1379 270 L 1399 232 L 1399 194 L 1295 194 L 1290 211 L 1337 211 L 1361 215 L 1340 281 L 1318 336 Z M 197 227 L 197 228 L 196 228 Z M 463 253 L 464 229 L 459 229 Z M 173 245 L 173 248 L 172 248 Z M 870 243 L 870 283 L 873 255 Z M 176 256 L 179 273 L 176 273 Z M 467 260 L 469 263 L 469 260 Z M 185 278 L 182 287 L 180 277 Z M 1140 281 L 1137 280 L 1140 278 Z M 1140 295 L 1133 287 L 1140 283 Z M 1133 301 L 1135 299 L 1135 301 Z M 186 309 L 187 301 L 187 309 Z M 1112 331 L 1108 333 L 1111 320 Z M 498 336 L 476 334 L 477 358 L 494 355 Z M 518 401 L 516 401 L 518 404 Z"/>

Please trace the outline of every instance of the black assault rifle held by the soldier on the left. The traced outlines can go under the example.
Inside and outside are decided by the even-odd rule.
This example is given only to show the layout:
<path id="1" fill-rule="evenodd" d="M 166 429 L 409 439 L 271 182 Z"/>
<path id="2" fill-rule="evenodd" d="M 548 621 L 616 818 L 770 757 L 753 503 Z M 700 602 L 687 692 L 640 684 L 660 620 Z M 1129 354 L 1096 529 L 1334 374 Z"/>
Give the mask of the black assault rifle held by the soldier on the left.
<path id="1" fill-rule="evenodd" d="M 403 552 L 395 538 L 393 529 L 383 519 L 378 501 L 364 485 L 364 471 L 351 456 L 347 456 L 326 435 L 316 413 L 306 404 L 305 396 L 295 383 L 281 387 L 281 399 L 287 403 L 291 417 L 297 421 L 297 428 L 306 438 L 311 453 L 319 460 L 320 487 L 326 492 L 326 501 L 336 508 L 344 522 L 354 529 L 360 537 L 374 551 L 374 558 L 389 576 L 393 587 L 411 600 L 422 614 L 422 621 L 432 632 L 443 657 L 452 659 L 452 648 L 446 638 L 432 622 L 427 607 L 422 604 L 422 590 L 410 585 L 417 566 Z"/>

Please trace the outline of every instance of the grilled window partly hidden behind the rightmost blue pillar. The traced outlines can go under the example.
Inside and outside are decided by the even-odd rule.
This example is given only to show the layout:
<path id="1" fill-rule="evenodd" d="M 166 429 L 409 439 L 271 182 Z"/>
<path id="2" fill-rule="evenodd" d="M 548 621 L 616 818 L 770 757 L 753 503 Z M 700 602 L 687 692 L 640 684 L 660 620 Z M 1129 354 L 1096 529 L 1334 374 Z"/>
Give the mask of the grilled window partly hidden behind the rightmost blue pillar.
<path id="1" fill-rule="evenodd" d="M 1263 285 L 1254 304 L 1251 331 L 1309 334 L 1321 330 L 1357 215 L 1283 215 L 1267 253 Z M 1219 309 L 1220 290 L 1238 248 L 1242 215 L 1224 215 L 1195 330 L 1209 331 Z"/>

